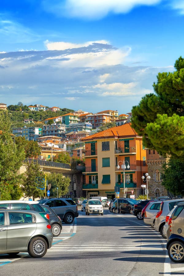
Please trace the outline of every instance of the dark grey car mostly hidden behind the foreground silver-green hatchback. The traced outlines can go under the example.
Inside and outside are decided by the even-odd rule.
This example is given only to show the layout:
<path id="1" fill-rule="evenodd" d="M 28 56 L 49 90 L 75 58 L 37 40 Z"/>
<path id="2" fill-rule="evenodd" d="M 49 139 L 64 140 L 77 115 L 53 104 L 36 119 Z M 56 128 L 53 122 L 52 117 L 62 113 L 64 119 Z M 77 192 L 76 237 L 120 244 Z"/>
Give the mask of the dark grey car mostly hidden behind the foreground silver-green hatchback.
<path id="1" fill-rule="evenodd" d="M 53 236 L 59 236 L 62 230 L 62 222 L 60 217 L 48 205 L 41 206 L 44 211 L 49 214 L 49 223 L 51 224 L 51 231 Z"/>

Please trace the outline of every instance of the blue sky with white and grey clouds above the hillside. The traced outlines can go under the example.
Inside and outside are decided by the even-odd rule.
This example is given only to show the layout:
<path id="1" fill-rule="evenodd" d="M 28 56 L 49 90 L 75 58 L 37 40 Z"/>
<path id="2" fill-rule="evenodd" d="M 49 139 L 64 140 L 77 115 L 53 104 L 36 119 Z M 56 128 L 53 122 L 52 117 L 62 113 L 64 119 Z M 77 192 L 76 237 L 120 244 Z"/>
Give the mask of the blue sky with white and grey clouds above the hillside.
<path id="1" fill-rule="evenodd" d="M 0 102 L 130 112 L 184 57 L 183 0 L 24 0 L 0 7 Z"/>

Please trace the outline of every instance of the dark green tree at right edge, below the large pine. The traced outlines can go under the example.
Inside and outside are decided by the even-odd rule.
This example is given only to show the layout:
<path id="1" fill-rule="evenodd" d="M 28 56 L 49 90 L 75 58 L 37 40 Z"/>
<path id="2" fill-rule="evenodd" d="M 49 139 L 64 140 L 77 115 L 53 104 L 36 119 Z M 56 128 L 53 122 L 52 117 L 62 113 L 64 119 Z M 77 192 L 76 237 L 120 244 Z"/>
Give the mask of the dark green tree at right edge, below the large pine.
<path id="1" fill-rule="evenodd" d="M 162 185 L 174 195 L 184 196 L 184 162 L 170 159 L 163 165 Z"/>

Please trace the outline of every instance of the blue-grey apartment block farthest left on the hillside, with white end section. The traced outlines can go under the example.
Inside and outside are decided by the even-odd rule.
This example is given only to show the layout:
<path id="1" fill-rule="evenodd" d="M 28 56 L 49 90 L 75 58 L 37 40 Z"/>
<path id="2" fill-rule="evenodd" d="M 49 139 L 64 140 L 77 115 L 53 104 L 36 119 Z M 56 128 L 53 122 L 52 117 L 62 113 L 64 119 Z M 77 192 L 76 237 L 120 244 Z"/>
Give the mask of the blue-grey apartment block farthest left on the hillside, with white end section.
<path id="1" fill-rule="evenodd" d="M 29 127 L 29 128 L 13 128 L 13 135 L 25 137 L 26 140 L 37 141 L 37 138 L 42 135 L 42 128 Z"/>

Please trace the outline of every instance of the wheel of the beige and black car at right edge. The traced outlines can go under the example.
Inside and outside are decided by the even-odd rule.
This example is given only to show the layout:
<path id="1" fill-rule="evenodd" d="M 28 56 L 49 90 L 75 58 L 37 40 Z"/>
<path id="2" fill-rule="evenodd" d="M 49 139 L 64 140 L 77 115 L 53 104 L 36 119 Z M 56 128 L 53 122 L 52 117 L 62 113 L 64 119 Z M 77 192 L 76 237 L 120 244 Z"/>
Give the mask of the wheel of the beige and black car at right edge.
<path id="1" fill-rule="evenodd" d="M 182 263 L 184 260 L 184 244 L 177 240 L 172 242 L 168 248 L 168 255 L 174 263 Z"/>

